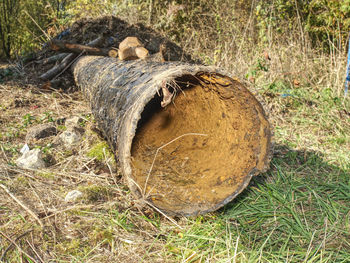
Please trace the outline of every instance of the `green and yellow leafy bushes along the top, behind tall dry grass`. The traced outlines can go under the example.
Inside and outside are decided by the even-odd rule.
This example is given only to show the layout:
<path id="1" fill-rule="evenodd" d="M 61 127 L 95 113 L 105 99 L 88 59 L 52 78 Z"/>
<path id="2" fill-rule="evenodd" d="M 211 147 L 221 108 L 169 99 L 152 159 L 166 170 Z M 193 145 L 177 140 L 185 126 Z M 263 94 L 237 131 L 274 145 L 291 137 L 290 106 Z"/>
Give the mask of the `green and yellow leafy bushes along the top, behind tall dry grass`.
<path id="1" fill-rule="evenodd" d="M 35 50 L 74 20 L 102 14 L 148 23 L 179 43 L 204 31 L 218 50 L 232 37 L 235 50 L 242 38 L 266 45 L 293 36 L 342 51 L 350 30 L 350 0 L 1 0 L 0 10 L 2 57 Z"/>

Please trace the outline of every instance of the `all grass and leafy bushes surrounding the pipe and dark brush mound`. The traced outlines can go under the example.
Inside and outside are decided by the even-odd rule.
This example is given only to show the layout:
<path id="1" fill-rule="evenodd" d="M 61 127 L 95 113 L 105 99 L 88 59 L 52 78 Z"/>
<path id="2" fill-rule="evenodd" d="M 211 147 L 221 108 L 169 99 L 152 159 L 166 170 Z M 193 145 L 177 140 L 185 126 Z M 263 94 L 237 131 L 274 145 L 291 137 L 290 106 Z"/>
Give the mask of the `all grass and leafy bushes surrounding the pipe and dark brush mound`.
<path id="1" fill-rule="evenodd" d="M 81 17 L 112 14 L 147 24 L 257 91 L 276 140 L 271 169 L 237 199 L 215 213 L 175 218 L 174 224 L 137 206 L 115 173 L 91 168 L 99 149 L 94 143 L 101 142 L 89 129 L 91 140 L 78 153 L 41 146 L 62 166 L 16 170 L 13 161 L 32 125 L 69 111 L 81 114 L 87 127 L 93 120 L 81 95 L 41 94 L 2 85 L 0 78 L 0 97 L 6 98 L 0 101 L 6 123 L 0 130 L 6 157 L 0 182 L 28 203 L 39 203 L 40 196 L 45 206 L 48 199 L 58 207 L 53 216 L 43 216 L 54 223 L 50 234 L 42 234 L 35 221 L 9 205 L 11 199 L 1 204 L 7 195 L 0 189 L 0 234 L 18 237 L 32 255 L 31 242 L 42 258 L 57 262 L 349 262 L 350 100 L 344 80 L 350 0 L 0 0 L 0 8 L 4 59 L 27 56 Z M 30 101 L 42 106 L 39 111 Z M 12 104 L 27 112 L 14 113 L 18 107 Z M 82 175 L 84 165 L 89 169 Z M 69 207 L 55 203 L 77 185 L 82 200 Z M 25 243 L 20 234 L 27 230 L 33 234 Z M 8 251 L 9 262 L 29 261 L 2 240 L 0 252 Z"/>

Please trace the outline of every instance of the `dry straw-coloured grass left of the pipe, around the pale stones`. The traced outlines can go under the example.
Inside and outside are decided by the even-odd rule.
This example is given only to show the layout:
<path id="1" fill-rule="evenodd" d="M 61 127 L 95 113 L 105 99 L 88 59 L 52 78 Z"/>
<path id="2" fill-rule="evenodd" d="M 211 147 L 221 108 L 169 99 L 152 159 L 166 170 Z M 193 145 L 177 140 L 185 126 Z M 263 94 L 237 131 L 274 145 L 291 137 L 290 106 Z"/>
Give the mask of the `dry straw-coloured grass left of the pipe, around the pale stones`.
<path id="1" fill-rule="evenodd" d="M 98 160 L 101 153 L 106 156 L 106 149 L 94 148 L 94 145 L 103 144 L 91 131 L 91 120 L 86 121 L 85 136 L 75 149 L 56 145 L 53 137 L 29 145 L 43 150 L 47 147 L 45 158 L 51 159 L 49 168 L 22 170 L 14 166 L 13 161 L 20 155 L 19 149 L 24 144 L 26 129 L 48 121 L 42 120 L 43 111 L 53 110 L 51 106 L 56 105 L 50 120 L 72 114 L 86 118 L 89 114 L 86 103 L 79 99 L 79 107 L 76 101 L 67 99 L 77 94 L 56 94 L 56 97 L 36 88 L 10 85 L 1 86 L 1 93 L 4 112 L 1 121 L 7 125 L 1 126 L 0 181 L 11 195 L 2 191 L 5 186 L 1 189 L 2 260 L 125 262 L 128 259 L 128 262 L 140 262 L 145 256 L 144 251 L 138 249 L 141 244 L 146 251 L 148 248 L 162 251 L 159 244 L 152 244 L 159 231 L 144 212 L 151 218 L 158 215 L 149 209 L 137 208 L 118 173 L 110 171 L 107 159 Z M 17 103 L 16 98 L 23 103 Z M 26 100 L 31 102 L 26 104 Z M 27 114 L 33 119 L 23 127 L 22 117 Z M 48 147 L 50 143 L 54 146 Z M 73 189 L 83 192 L 83 197 L 75 203 L 65 202 L 66 193 Z M 133 259 L 129 259 L 130 253 Z"/>

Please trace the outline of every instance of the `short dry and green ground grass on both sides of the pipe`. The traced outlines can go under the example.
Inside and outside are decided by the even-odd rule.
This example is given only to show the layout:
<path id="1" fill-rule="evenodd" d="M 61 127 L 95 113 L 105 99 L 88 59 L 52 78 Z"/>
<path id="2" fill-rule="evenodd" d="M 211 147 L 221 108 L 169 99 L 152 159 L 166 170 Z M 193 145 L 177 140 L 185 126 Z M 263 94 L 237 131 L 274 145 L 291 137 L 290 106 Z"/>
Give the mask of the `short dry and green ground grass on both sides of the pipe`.
<path id="1" fill-rule="evenodd" d="M 285 82 L 256 88 L 275 124 L 271 169 L 219 211 L 175 218 L 181 228 L 135 202 L 118 174 L 110 173 L 107 145 L 90 130 L 92 119 L 85 123 L 88 136 L 78 146 L 78 155 L 74 149 L 55 146 L 50 153 L 61 163 L 47 171 L 12 166 L 26 129 L 46 116 L 44 112 L 52 112 L 46 106 L 43 113 L 27 113 L 25 107 L 31 105 L 25 106 L 25 114 L 1 128 L 2 134 L 11 127 L 20 133 L 1 137 L 7 160 L 2 159 L 0 183 L 30 204 L 47 229 L 42 235 L 36 221 L 0 192 L 0 254 L 11 244 L 4 235 L 13 240 L 32 230 L 16 243 L 32 258 L 36 251 L 57 262 L 348 262 L 349 119 L 341 114 L 348 111 L 348 102 L 327 88 L 315 93 Z M 22 88 L 12 90 L 11 96 L 16 97 L 16 92 L 22 93 Z M 280 96 L 284 92 L 292 96 Z M 46 100 L 41 94 L 30 96 L 37 103 Z M 75 104 L 68 112 L 73 108 Z M 18 107 L 7 107 L 2 118 L 14 111 Z M 61 117 L 53 112 L 55 119 Z M 42 147 L 47 143 L 41 142 Z M 73 189 L 82 191 L 83 198 L 62 203 Z M 16 247 L 5 258 L 30 262 Z"/>

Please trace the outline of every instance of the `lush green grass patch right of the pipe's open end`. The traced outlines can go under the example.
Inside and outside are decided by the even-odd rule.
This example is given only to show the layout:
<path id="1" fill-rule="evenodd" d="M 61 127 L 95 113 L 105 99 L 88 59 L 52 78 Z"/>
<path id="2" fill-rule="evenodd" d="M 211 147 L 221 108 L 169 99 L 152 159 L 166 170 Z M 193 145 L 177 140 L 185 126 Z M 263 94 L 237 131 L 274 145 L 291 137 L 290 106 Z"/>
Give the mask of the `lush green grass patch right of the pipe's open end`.
<path id="1" fill-rule="evenodd" d="M 177 259 L 196 251 L 204 262 L 348 262 L 349 170 L 301 151 L 272 167 L 218 213 L 173 234 Z"/>

